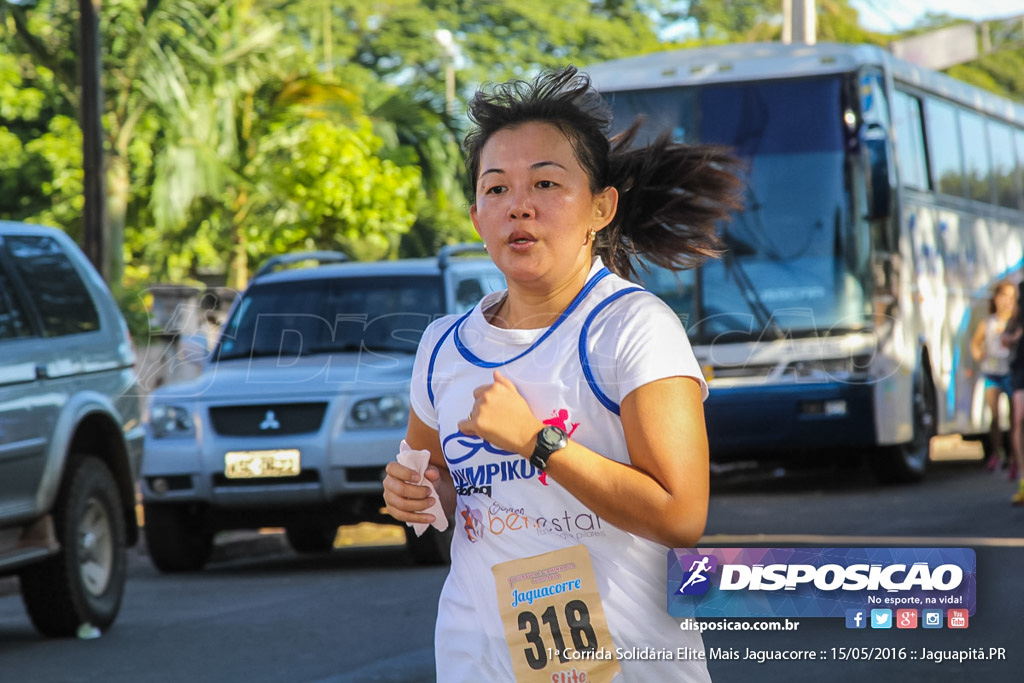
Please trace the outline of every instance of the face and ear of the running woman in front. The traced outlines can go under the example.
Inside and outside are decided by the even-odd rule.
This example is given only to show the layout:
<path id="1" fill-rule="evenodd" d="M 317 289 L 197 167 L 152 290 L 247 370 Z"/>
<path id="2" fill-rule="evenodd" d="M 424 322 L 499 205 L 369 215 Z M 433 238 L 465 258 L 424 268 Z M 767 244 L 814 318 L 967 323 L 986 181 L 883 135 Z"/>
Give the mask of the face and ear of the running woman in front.
<path id="1" fill-rule="evenodd" d="M 501 130 L 480 154 L 470 215 L 510 284 L 545 289 L 590 269 L 591 229 L 614 216 L 613 187 L 598 195 L 568 139 L 555 126 Z"/>

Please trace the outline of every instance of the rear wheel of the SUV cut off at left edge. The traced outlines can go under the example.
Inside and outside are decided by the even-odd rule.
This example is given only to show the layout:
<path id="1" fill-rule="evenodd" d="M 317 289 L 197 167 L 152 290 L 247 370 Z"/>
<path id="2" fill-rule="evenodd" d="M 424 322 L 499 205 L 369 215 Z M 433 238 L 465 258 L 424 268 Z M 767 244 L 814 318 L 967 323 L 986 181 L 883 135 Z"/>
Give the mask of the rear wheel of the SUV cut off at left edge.
<path id="1" fill-rule="evenodd" d="M 45 636 L 105 631 L 127 577 L 125 519 L 117 483 L 98 458 L 73 456 L 53 510 L 60 552 L 20 572 L 22 599 Z"/>

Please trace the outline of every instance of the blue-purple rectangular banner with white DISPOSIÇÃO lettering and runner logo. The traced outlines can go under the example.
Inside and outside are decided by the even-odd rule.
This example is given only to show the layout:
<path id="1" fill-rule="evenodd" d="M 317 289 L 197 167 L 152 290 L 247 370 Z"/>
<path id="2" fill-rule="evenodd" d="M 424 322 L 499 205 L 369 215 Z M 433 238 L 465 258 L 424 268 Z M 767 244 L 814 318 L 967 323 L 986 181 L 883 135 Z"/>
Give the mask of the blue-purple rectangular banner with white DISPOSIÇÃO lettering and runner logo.
<path id="1" fill-rule="evenodd" d="M 970 548 L 674 548 L 673 616 L 844 616 L 847 609 L 975 612 Z"/>

